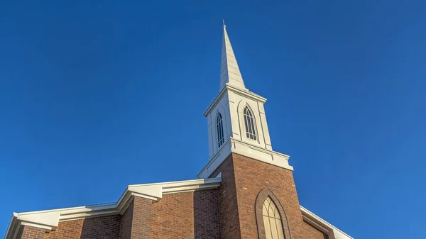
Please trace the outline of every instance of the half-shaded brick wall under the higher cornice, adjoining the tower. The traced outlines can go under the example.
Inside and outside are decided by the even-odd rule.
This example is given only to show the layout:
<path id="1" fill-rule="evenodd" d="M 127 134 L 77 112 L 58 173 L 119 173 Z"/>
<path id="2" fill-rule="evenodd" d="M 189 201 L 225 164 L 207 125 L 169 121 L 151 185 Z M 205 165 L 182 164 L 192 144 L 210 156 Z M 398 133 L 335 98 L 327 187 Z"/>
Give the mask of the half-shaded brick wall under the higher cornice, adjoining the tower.
<path id="1" fill-rule="evenodd" d="M 153 204 L 151 239 L 220 239 L 217 190 L 165 194 Z"/>

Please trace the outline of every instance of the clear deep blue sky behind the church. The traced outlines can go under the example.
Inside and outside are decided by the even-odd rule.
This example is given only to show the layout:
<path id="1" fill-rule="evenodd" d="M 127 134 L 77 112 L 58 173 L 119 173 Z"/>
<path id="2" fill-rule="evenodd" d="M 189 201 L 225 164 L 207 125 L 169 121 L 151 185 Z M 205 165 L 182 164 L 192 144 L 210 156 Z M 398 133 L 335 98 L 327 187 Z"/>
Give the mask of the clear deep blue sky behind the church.
<path id="1" fill-rule="evenodd" d="M 194 179 L 224 18 L 302 206 L 426 238 L 424 1 L 141 2 L 0 2 L 1 235 L 13 211 Z"/>

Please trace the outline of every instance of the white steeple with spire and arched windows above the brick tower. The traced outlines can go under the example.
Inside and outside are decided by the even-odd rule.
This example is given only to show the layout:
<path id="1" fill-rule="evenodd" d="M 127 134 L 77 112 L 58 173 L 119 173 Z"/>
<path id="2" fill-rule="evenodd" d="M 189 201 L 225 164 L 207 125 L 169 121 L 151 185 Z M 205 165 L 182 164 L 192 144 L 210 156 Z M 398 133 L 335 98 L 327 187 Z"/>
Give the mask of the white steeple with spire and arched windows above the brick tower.
<path id="1" fill-rule="evenodd" d="M 209 177 L 231 152 L 293 170 L 288 155 L 272 150 L 266 99 L 249 91 L 223 25 L 219 94 L 204 112 L 209 132 L 209 162 L 199 178 Z"/>

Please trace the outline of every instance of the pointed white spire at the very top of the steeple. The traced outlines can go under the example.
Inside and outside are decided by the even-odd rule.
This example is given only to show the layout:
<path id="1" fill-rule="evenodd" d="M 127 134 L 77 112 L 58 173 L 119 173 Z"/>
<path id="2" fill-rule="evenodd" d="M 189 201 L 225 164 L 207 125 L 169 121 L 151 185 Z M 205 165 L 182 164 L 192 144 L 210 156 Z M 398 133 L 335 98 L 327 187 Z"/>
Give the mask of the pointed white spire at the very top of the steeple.
<path id="1" fill-rule="evenodd" d="M 220 67 L 220 89 L 222 89 L 226 83 L 246 89 L 244 86 L 243 77 L 236 63 L 234 50 L 232 50 L 231 41 L 229 40 L 228 33 L 226 33 L 226 26 L 224 21 L 224 38 L 222 40 L 222 65 Z"/>

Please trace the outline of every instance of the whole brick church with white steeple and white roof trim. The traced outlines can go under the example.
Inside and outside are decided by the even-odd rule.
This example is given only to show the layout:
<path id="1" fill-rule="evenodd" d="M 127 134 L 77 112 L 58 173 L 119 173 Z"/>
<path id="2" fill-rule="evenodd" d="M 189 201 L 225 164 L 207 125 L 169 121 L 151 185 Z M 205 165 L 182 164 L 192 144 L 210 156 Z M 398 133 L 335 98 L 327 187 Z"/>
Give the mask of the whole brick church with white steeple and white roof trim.
<path id="1" fill-rule="evenodd" d="M 13 213 L 5 238 L 351 238 L 299 204 L 289 156 L 272 148 L 265 103 L 246 88 L 223 26 L 219 93 L 204 112 L 209 160 L 198 179 L 129 185 L 112 204 Z"/>

